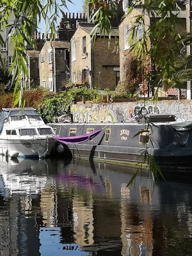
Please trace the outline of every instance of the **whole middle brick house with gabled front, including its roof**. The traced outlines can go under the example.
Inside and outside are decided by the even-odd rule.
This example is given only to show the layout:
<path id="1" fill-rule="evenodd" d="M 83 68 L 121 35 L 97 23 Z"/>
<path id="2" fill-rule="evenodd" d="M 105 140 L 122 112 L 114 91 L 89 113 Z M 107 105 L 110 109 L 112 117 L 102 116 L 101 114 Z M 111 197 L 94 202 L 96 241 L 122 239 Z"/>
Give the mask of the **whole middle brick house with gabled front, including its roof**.
<path id="1" fill-rule="evenodd" d="M 97 33 L 92 44 L 93 24 L 79 23 L 70 41 L 71 81 L 74 84 L 87 84 L 90 88 L 99 87 L 115 90 L 119 80 L 118 28 L 109 36 Z"/>

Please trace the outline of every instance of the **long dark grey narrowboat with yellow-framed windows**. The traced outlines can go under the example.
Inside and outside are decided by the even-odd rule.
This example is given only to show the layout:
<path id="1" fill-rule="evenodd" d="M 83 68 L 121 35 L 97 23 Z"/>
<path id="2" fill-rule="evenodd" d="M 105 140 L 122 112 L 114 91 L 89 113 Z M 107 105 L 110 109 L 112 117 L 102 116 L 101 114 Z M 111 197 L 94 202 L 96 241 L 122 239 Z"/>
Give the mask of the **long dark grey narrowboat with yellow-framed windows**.
<path id="1" fill-rule="evenodd" d="M 192 123 L 175 122 L 173 115 L 150 115 L 132 123 L 51 124 L 57 138 L 71 154 L 80 158 L 113 162 L 138 162 L 145 156 L 157 163 L 185 163 L 192 158 Z M 101 130 L 101 131 L 100 131 Z M 76 142 L 84 134 L 100 133 L 89 141 Z M 74 143 L 72 139 L 74 138 Z M 70 142 L 68 142 L 70 141 Z"/>

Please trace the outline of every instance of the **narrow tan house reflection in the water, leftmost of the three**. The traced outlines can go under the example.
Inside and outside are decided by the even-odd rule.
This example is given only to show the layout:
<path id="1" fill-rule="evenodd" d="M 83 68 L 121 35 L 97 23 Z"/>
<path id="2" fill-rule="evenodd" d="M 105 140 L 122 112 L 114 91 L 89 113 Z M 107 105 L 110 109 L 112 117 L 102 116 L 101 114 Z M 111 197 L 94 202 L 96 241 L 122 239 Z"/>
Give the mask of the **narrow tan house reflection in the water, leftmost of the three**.
<path id="1" fill-rule="evenodd" d="M 42 209 L 45 227 L 55 227 L 58 217 L 57 204 L 56 189 L 53 187 L 52 183 L 50 188 L 48 186 L 41 193 L 40 207 Z"/>

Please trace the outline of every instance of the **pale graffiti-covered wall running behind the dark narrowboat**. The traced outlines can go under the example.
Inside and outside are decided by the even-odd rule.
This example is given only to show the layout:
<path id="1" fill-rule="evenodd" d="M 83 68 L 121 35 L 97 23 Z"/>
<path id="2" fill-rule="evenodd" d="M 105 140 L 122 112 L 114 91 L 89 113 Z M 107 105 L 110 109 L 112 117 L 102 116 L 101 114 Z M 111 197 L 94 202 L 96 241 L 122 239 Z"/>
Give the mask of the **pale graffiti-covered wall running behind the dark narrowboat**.
<path id="1" fill-rule="evenodd" d="M 191 100 L 161 100 L 157 103 L 82 104 L 71 108 L 74 122 L 134 122 L 139 115 L 172 114 L 178 121 L 192 122 Z"/>

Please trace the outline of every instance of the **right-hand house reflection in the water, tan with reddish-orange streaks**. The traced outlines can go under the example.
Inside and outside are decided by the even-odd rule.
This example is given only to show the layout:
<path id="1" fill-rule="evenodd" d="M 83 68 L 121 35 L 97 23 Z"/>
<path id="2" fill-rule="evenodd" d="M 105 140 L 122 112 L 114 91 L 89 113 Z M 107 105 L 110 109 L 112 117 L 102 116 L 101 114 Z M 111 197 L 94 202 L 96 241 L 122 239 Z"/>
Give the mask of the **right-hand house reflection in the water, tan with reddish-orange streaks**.
<path id="1" fill-rule="evenodd" d="M 150 189 L 140 187 L 139 192 L 141 205 L 134 205 L 131 203 L 133 192 L 130 191 L 127 184 L 122 184 L 121 237 L 123 256 L 152 255 L 152 217 L 150 216 L 150 208 L 146 208 L 146 205 L 151 204 Z M 142 209 L 143 205 L 145 207 Z"/>

